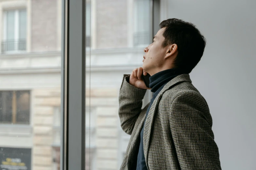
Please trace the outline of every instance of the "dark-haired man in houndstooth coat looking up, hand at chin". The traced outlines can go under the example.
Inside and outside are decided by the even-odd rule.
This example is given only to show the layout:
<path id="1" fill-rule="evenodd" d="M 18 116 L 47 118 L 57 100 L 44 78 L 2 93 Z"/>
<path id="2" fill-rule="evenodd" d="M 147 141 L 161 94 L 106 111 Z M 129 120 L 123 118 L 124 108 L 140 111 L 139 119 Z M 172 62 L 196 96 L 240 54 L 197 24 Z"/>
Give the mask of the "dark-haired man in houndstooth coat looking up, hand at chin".
<path id="1" fill-rule="evenodd" d="M 130 141 L 121 170 L 221 169 L 207 102 L 189 73 L 200 61 L 206 41 L 192 23 L 160 23 L 144 49 L 143 66 L 124 75 L 119 117 Z M 149 74 L 147 88 L 141 75 Z M 146 89 L 153 98 L 144 108 Z"/>

